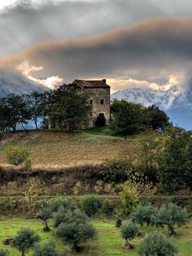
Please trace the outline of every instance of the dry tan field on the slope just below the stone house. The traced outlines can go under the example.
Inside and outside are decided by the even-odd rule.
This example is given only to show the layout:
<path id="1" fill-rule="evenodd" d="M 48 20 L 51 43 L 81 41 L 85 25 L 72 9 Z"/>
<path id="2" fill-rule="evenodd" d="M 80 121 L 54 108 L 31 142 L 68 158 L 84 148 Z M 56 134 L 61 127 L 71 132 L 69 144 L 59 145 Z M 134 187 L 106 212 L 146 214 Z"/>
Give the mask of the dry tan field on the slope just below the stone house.
<path id="1" fill-rule="evenodd" d="M 32 149 L 33 165 L 73 165 L 97 163 L 132 154 L 135 137 L 111 137 L 102 130 L 76 134 L 53 131 L 29 131 L 8 135 L 0 142 L 0 163 L 6 164 L 3 148 L 11 144 L 25 144 Z"/>

